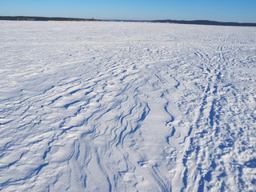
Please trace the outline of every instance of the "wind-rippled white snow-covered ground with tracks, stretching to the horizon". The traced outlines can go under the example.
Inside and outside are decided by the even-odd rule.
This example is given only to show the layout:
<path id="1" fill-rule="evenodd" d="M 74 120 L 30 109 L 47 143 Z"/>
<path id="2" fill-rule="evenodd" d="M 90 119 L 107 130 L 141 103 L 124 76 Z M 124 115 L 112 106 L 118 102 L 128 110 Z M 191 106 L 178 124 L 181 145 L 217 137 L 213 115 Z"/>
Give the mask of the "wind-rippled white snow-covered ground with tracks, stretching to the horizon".
<path id="1" fill-rule="evenodd" d="M 255 191 L 256 28 L 0 22 L 1 191 Z"/>

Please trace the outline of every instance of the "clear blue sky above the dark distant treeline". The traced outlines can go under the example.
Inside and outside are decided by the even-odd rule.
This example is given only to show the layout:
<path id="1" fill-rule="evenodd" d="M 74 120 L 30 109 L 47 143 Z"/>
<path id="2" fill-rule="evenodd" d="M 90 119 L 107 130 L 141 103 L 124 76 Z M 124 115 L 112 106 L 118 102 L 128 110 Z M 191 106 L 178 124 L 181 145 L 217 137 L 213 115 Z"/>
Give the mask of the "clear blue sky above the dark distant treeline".
<path id="1" fill-rule="evenodd" d="M 0 0 L 0 15 L 256 22 L 256 0 Z"/>

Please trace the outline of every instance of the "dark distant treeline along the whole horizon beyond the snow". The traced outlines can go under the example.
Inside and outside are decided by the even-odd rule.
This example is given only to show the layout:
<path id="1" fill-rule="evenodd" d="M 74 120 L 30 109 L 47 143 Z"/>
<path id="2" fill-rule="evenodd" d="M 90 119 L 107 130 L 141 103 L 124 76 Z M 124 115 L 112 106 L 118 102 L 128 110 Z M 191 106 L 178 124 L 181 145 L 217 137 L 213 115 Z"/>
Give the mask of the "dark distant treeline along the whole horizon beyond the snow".
<path id="1" fill-rule="evenodd" d="M 209 26 L 256 26 L 256 23 L 251 22 L 214 22 L 208 20 L 196 21 L 179 21 L 179 20 L 101 20 L 94 18 L 47 18 L 47 17 L 26 17 L 26 16 L 0 16 L 0 20 L 13 20 L 13 21 L 105 21 L 105 22 L 164 22 L 164 23 L 178 23 L 178 24 L 192 24 L 192 25 L 209 25 Z"/>

